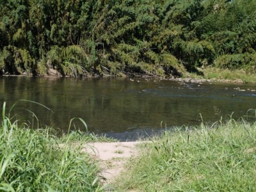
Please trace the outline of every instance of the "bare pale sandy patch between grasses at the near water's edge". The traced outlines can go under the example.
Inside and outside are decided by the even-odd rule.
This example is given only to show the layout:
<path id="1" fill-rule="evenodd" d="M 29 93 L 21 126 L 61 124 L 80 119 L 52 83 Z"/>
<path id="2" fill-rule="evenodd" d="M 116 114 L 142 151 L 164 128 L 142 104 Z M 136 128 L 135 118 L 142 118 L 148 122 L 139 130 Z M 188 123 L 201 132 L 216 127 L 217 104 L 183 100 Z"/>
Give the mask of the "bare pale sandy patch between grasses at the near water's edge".
<path id="1" fill-rule="evenodd" d="M 99 159 L 102 177 L 109 184 L 124 170 L 128 159 L 138 155 L 136 145 L 140 143 L 143 142 L 88 143 L 84 145 L 83 151 Z"/>

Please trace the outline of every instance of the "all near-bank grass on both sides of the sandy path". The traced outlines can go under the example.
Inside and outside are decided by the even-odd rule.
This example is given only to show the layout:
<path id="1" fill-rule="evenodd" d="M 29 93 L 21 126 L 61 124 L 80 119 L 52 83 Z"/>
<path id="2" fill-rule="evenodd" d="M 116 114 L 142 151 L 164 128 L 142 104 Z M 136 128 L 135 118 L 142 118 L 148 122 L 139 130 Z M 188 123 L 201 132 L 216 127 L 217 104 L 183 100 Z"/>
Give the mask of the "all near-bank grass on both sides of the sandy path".
<path id="1" fill-rule="evenodd" d="M 250 122 L 221 119 L 212 125 L 202 122 L 164 131 L 141 144 L 140 155 L 132 157 L 115 183 L 103 186 L 97 160 L 82 148 L 89 141 L 112 139 L 81 131 L 57 137 L 49 127 L 29 129 L 6 113 L 4 102 L 0 190 L 255 191 L 255 112 L 248 111 Z"/>

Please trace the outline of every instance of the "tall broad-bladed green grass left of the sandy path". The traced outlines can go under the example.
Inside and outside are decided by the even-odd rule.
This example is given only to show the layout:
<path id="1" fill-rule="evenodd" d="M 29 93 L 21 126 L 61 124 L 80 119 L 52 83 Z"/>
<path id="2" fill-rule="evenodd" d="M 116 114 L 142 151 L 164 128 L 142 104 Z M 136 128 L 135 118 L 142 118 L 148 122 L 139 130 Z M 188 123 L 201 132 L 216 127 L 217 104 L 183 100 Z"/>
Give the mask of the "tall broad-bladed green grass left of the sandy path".
<path id="1" fill-rule="evenodd" d="M 103 190 L 95 160 L 81 152 L 79 142 L 68 144 L 74 134 L 57 138 L 50 128 L 32 130 L 12 122 L 5 102 L 2 118 L 0 191 Z"/>

